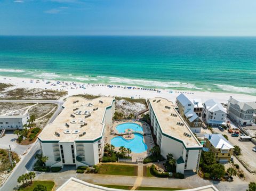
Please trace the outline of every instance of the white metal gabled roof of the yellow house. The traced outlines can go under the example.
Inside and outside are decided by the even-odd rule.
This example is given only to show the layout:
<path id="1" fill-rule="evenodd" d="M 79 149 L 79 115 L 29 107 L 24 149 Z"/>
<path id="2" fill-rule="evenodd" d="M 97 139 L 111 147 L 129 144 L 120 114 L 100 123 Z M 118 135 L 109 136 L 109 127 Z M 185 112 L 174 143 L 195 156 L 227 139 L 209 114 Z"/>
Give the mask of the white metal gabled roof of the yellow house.
<path id="1" fill-rule="evenodd" d="M 229 143 L 221 134 L 205 134 L 205 138 L 210 141 L 214 148 L 221 148 L 224 150 L 234 148 L 233 145 L 231 145 L 231 143 Z"/>

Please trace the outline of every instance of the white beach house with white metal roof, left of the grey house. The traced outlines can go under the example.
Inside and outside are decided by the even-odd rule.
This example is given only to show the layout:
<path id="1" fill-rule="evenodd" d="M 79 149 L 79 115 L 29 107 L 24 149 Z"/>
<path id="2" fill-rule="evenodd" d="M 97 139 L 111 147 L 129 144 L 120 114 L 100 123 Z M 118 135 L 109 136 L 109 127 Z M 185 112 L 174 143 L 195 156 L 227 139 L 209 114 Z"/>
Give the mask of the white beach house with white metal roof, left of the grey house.
<path id="1" fill-rule="evenodd" d="M 227 121 L 226 109 L 214 99 L 209 99 L 203 103 L 203 119 L 211 126 L 222 126 Z"/>

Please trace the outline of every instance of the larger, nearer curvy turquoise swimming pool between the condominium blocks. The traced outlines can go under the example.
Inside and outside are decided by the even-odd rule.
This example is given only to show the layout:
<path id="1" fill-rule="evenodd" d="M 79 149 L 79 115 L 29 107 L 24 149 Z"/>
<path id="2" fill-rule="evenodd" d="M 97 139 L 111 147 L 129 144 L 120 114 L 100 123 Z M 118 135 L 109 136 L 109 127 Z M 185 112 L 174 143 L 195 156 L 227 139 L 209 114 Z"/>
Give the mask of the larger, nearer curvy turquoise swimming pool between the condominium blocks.
<path id="1" fill-rule="evenodd" d="M 143 142 L 143 136 L 138 133 L 134 133 L 134 138 L 131 140 L 126 140 L 121 136 L 114 137 L 110 143 L 115 147 L 130 148 L 133 153 L 143 153 L 148 149 L 148 146 Z"/>

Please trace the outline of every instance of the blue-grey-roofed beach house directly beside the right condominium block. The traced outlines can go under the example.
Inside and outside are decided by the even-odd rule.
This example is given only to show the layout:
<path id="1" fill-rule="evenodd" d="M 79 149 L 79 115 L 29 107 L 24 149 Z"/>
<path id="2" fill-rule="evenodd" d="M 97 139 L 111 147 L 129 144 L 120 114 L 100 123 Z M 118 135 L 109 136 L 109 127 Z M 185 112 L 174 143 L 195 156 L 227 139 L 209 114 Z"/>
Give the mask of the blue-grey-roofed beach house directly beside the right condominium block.
<path id="1" fill-rule="evenodd" d="M 201 132 L 203 105 L 200 99 L 189 99 L 184 94 L 176 98 L 176 105 L 181 117 L 187 122 L 191 131 L 194 133 Z"/>

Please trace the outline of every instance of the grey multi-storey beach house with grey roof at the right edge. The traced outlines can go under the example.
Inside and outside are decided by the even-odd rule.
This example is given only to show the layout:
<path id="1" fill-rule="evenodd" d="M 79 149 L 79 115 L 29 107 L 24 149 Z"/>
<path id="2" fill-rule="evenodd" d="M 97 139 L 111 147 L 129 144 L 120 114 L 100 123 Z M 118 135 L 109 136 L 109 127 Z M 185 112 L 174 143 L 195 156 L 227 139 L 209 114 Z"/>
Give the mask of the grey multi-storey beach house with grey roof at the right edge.
<path id="1" fill-rule="evenodd" d="M 239 102 L 230 97 L 227 112 L 228 117 L 241 126 L 252 124 L 256 119 L 256 102 Z"/>

